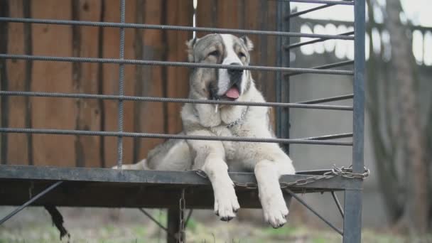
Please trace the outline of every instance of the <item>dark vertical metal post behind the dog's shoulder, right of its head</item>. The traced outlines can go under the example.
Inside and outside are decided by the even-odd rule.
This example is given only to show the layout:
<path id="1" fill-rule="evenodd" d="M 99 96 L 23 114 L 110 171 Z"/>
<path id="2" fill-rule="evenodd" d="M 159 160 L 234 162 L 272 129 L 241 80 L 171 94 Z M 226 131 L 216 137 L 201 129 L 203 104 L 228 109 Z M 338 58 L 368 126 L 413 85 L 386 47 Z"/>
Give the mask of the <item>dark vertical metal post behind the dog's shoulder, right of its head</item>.
<path id="1" fill-rule="evenodd" d="M 287 18 L 290 13 L 289 1 L 278 1 L 277 5 L 277 30 L 290 31 L 290 20 Z M 289 45 L 289 38 L 278 36 L 276 39 L 276 65 L 279 67 L 290 66 L 290 52 L 284 48 Z M 282 50 L 282 51 L 281 51 Z M 289 102 L 289 77 L 281 72 L 276 72 L 276 102 Z M 289 109 L 288 107 L 276 108 L 276 135 L 279 138 L 289 138 Z M 289 144 L 281 144 L 286 153 L 289 153 Z"/>

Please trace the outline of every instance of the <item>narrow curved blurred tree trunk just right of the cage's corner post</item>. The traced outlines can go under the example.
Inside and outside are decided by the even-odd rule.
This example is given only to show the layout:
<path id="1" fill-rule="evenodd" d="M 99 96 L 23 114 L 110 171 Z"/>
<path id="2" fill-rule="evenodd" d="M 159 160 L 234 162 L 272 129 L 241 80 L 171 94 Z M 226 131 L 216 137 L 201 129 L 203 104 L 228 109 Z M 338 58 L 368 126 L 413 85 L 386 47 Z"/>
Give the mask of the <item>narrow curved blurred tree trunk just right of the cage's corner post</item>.
<path id="1" fill-rule="evenodd" d="M 367 33 L 372 36 L 372 30 L 377 30 L 378 24 L 374 20 L 374 3 L 367 1 L 369 6 Z M 388 72 L 388 63 L 384 63 L 381 53 L 374 53 L 377 48 L 370 41 L 369 60 L 367 61 L 367 112 L 369 114 L 370 135 L 372 137 L 372 148 L 377 161 L 377 174 L 379 188 L 382 192 L 387 215 L 392 222 L 399 220 L 403 212 L 403 203 L 400 200 L 399 177 L 396 173 L 395 151 L 398 146 L 399 134 L 391 129 L 391 121 L 394 119 L 392 109 L 389 107 L 391 95 L 389 90 L 389 78 L 383 77 Z M 381 48 L 383 50 L 384 48 Z M 383 92 L 385 90 L 386 92 Z M 377 105 L 382 104 L 382 105 Z"/>

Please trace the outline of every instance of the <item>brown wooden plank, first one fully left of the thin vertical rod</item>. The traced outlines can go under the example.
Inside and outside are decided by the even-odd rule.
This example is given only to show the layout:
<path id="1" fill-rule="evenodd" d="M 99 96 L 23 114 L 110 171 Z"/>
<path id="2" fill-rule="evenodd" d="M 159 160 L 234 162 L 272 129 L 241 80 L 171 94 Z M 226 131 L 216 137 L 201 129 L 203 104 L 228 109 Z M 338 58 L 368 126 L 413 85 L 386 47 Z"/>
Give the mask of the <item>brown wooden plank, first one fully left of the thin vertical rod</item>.
<path id="1" fill-rule="evenodd" d="M 100 21 L 102 1 L 72 1 L 72 18 L 79 21 Z M 98 57 L 99 28 L 72 26 L 73 56 Z M 73 63 L 74 92 L 97 94 L 99 90 L 97 63 Z M 76 129 L 99 131 L 101 109 L 96 99 L 76 99 Z M 100 167 L 100 138 L 98 136 L 77 136 L 75 141 L 75 165 L 79 167 Z"/>

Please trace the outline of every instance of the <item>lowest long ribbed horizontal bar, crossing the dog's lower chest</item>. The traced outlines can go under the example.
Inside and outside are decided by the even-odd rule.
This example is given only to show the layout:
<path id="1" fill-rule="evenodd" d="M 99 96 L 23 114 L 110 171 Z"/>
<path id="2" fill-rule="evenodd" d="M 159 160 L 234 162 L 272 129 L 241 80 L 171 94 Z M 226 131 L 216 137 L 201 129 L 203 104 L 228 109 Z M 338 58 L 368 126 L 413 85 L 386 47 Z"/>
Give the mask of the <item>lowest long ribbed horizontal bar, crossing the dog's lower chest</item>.
<path id="1" fill-rule="evenodd" d="M 81 135 L 81 136 L 126 136 L 134 138 L 152 139 L 188 139 L 188 140 L 210 140 L 210 141 L 243 141 L 251 143 L 279 143 L 279 144 L 321 144 L 352 146 L 352 142 L 347 141 L 318 141 L 306 139 L 264 139 L 239 136 L 189 136 L 179 134 L 149 134 L 137 132 L 120 131 L 84 131 L 84 130 L 63 130 L 63 129 L 21 129 L 21 128 L 0 128 L 0 133 L 18 134 L 59 134 L 59 135 Z"/>

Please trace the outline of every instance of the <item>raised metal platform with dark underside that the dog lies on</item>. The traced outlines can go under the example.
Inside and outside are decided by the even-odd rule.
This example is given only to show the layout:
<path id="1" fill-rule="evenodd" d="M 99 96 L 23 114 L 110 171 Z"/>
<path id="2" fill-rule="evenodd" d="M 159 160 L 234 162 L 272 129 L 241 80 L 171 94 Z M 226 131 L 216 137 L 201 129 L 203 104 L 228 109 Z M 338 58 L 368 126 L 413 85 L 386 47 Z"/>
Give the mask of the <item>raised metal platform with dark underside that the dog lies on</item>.
<path id="1" fill-rule="evenodd" d="M 303 171 L 283 175 L 281 184 L 311 178 L 327 171 Z M 242 208 L 261 208 L 253 173 L 229 173 Z M 335 176 L 306 185 L 293 185 L 294 193 L 342 189 L 360 190 L 361 179 Z M 177 207 L 185 188 L 186 207 L 212 208 L 210 181 L 196 171 L 130 171 L 109 168 L 59 168 L 45 166 L 1 166 L 0 205 L 23 205 L 58 181 L 61 185 L 32 205 L 67 207 Z M 286 193 L 288 197 L 288 193 Z"/>

